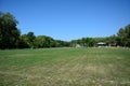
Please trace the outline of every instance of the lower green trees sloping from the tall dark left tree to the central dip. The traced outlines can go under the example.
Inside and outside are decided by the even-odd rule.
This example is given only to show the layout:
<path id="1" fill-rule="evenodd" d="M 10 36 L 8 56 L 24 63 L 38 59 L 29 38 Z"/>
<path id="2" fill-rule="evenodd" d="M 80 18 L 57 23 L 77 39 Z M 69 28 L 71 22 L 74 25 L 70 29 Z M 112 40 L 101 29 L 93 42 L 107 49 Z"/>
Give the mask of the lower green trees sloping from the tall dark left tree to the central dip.
<path id="1" fill-rule="evenodd" d="M 20 35 L 18 48 L 44 48 L 44 47 L 63 47 L 69 46 L 69 42 L 54 40 L 51 37 L 38 35 L 34 32 Z"/>

